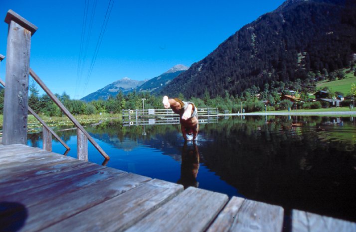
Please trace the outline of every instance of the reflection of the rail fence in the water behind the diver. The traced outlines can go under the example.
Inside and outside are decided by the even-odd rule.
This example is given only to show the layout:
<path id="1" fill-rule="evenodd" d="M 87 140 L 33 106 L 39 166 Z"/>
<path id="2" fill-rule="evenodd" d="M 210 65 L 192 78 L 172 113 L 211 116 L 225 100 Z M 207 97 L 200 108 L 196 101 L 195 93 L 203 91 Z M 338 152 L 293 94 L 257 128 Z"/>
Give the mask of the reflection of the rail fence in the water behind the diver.
<path id="1" fill-rule="evenodd" d="M 218 116 L 211 116 L 205 118 L 198 118 L 199 123 L 216 123 L 218 122 Z M 179 124 L 179 117 L 131 117 L 123 118 L 122 122 L 124 126 L 127 125 L 153 125 L 153 124 Z"/>

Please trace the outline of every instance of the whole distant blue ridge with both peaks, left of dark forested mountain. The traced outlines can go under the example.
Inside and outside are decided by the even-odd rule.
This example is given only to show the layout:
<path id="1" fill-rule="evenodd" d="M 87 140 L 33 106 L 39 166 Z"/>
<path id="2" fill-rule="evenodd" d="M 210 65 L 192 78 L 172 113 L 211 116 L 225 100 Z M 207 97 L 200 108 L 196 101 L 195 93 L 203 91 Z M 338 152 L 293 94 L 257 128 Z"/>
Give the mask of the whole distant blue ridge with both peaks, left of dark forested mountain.
<path id="1" fill-rule="evenodd" d="M 145 81 L 136 81 L 128 77 L 124 77 L 123 79 L 115 81 L 105 86 L 104 88 L 83 97 L 80 100 L 85 102 L 91 102 L 99 99 L 106 100 L 109 98 L 109 96 L 115 97 L 120 91 L 122 91 L 124 94 L 134 90 L 148 92 L 158 91 L 187 69 L 188 67 L 182 64 L 178 64 L 162 75 Z"/>

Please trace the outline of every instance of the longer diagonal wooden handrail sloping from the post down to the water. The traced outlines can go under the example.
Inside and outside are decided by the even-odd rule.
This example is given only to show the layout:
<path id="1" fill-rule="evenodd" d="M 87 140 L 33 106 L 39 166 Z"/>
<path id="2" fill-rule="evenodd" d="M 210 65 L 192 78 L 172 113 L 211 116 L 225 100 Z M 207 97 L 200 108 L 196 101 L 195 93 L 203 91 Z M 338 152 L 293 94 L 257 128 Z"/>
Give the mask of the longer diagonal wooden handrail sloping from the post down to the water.
<path id="1" fill-rule="evenodd" d="M 90 134 L 84 129 L 84 127 L 75 119 L 74 116 L 65 108 L 65 106 L 57 99 L 57 97 L 47 88 L 37 74 L 30 68 L 29 74 L 38 83 L 38 85 L 46 92 L 46 94 L 53 100 L 53 102 L 62 110 L 62 112 L 71 120 L 74 125 L 79 128 L 93 146 L 104 156 L 105 159 L 110 159 L 106 152 L 99 146 L 99 144 L 90 136 Z"/>

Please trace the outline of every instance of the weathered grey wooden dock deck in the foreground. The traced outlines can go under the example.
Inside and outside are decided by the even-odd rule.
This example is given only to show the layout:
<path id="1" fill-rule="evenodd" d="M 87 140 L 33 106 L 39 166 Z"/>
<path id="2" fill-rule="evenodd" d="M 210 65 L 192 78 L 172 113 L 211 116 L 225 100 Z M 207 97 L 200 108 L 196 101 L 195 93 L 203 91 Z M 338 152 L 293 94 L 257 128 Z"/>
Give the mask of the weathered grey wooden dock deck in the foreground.
<path id="1" fill-rule="evenodd" d="M 151 179 L 23 144 L 0 145 L 0 231 L 281 232 L 282 207 Z M 292 212 L 292 232 L 356 224 Z"/>

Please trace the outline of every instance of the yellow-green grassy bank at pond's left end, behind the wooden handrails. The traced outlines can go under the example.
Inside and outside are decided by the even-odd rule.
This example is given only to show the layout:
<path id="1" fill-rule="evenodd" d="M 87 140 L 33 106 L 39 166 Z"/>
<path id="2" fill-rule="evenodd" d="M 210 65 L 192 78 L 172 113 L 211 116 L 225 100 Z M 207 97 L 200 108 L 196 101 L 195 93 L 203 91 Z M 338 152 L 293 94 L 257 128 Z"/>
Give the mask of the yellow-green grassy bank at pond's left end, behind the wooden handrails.
<path id="1" fill-rule="evenodd" d="M 40 117 L 42 118 L 42 120 L 46 122 L 48 126 L 54 128 L 54 130 L 74 127 L 73 122 L 70 121 L 69 118 L 66 116 L 62 116 L 62 117 L 40 116 Z M 121 118 L 121 114 L 104 113 L 102 115 L 77 115 L 74 117 L 77 119 L 77 121 L 79 121 L 80 124 L 85 126 L 85 125 L 95 124 L 100 121 L 106 121 L 111 118 Z M 2 121 L 3 121 L 2 118 L 3 116 L 0 115 L 0 129 L 2 129 Z M 28 128 L 28 132 L 36 132 L 42 129 L 42 124 L 33 115 L 28 115 L 27 128 Z"/>

